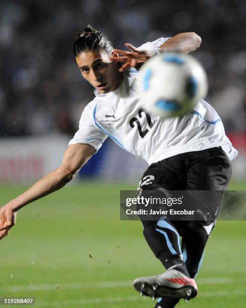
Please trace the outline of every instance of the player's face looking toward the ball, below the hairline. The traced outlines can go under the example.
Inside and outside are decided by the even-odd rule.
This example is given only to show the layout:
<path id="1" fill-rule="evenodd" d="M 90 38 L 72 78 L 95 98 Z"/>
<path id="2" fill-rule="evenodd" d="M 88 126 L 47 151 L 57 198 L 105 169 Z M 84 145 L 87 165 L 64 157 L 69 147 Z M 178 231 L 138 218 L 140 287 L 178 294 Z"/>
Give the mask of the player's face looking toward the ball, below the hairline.
<path id="1" fill-rule="evenodd" d="M 103 51 L 88 50 L 81 52 L 75 59 L 85 80 L 99 93 L 108 93 L 118 88 L 122 81 L 122 73 L 115 62 L 102 60 Z"/>

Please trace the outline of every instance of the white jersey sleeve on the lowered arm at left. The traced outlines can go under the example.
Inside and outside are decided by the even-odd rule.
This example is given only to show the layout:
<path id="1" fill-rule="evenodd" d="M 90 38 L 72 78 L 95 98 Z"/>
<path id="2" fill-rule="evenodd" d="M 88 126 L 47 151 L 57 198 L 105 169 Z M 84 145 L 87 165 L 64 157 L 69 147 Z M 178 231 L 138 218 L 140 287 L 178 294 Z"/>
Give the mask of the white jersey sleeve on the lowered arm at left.
<path id="1" fill-rule="evenodd" d="M 93 109 L 89 105 L 85 107 L 79 120 L 79 129 L 69 141 L 68 145 L 76 143 L 89 144 L 97 152 L 107 138 L 107 135 L 96 127 L 93 121 Z"/>

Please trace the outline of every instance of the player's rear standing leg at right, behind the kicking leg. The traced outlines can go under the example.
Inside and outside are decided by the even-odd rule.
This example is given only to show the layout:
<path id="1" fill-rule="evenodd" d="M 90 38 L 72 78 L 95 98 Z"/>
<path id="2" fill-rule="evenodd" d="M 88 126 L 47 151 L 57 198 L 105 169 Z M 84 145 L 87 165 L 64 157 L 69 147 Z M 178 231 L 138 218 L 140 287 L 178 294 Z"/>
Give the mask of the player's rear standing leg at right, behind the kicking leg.
<path id="1" fill-rule="evenodd" d="M 231 164 L 221 148 L 212 148 L 205 151 L 188 153 L 187 189 L 190 190 L 217 190 L 220 193 L 214 195 L 212 206 L 214 212 L 218 212 L 222 202 L 223 191 L 226 190 L 230 174 Z M 198 273 L 208 237 L 215 225 L 212 221 L 178 221 L 173 222 L 182 235 L 182 253 L 189 271 L 194 278 Z M 159 298 L 156 308 L 173 308 L 179 298 Z"/>

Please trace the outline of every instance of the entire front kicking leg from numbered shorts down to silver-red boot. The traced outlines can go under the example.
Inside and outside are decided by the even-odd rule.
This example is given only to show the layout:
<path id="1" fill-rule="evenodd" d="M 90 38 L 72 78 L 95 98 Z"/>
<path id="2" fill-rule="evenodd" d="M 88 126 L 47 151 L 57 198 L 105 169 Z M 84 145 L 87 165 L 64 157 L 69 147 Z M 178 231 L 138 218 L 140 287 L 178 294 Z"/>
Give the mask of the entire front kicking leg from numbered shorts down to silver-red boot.
<path id="1" fill-rule="evenodd" d="M 158 188 L 163 189 L 163 187 L 167 190 L 182 190 L 182 179 L 172 169 L 154 164 L 144 174 L 141 185 L 142 196 L 154 195 Z M 192 298 L 197 294 L 197 286 L 195 281 L 190 279 L 183 261 L 179 234 L 167 217 L 160 218 L 153 221 L 142 220 L 142 223 L 148 245 L 167 272 L 138 278 L 134 281 L 134 286 L 141 294 L 148 296 L 171 295 Z"/>

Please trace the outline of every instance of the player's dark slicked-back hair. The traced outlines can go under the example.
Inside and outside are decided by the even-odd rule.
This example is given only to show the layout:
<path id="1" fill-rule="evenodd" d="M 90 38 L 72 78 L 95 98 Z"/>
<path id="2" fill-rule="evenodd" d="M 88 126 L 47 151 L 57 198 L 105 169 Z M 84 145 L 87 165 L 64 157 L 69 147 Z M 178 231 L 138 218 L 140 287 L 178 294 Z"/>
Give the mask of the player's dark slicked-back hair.
<path id="1" fill-rule="evenodd" d="M 111 55 L 113 50 L 112 43 L 103 33 L 90 25 L 87 25 L 84 29 L 79 30 L 76 34 L 76 41 L 73 44 L 74 60 L 80 52 L 99 49 L 104 50 L 109 55 Z"/>

